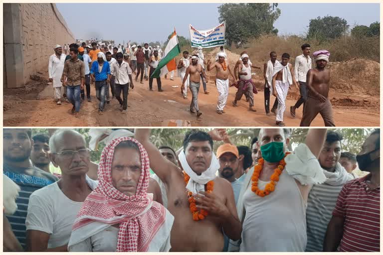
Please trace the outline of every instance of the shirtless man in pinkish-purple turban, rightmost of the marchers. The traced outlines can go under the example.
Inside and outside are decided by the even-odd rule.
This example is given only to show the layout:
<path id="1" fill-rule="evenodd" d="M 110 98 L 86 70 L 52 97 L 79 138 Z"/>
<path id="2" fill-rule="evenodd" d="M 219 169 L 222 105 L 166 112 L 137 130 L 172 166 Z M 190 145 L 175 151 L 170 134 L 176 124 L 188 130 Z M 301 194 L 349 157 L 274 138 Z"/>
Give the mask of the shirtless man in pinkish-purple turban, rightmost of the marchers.
<path id="1" fill-rule="evenodd" d="M 330 71 L 325 69 L 330 52 L 319 50 L 313 53 L 317 67 L 307 72 L 308 98 L 303 109 L 301 127 L 310 127 L 318 113 L 326 127 L 335 127 L 333 108 L 329 99 Z"/>

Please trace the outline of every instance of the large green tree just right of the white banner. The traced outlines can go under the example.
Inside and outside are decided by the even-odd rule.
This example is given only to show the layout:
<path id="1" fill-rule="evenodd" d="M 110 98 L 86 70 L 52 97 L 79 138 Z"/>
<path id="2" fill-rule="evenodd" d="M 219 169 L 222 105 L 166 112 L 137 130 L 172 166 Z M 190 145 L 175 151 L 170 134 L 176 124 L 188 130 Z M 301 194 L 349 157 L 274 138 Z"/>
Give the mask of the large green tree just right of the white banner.
<path id="1" fill-rule="evenodd" d="M 227 45 L 258 38 L 263 34 L 276 34 L 274 22 L 281 14 L 277 4 L 224 3 L 218 6 L 219 22 L 226 21 Z"/>

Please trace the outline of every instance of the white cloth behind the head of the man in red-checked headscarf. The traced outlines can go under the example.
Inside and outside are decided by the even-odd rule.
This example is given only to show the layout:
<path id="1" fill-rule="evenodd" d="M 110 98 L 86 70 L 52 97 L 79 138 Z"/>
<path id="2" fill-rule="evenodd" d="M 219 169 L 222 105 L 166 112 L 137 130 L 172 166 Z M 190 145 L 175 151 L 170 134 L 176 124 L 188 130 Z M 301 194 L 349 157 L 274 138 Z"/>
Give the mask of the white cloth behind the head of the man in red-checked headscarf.
<path id="1" fill-rule="evenodd" d="M 91 128 L 89 130 L 89 135 L 90 135 L 89 148 L 91 150 L 95 150 L 96 145 L 99 142 L 104 142 L 105 144 L 108 144 L 109 142 L 111 142 L 115 138 L 123 137 L 123 136 L 129 136 L 130 137 L 130 136 L 133 136 L 134 133 L 129 131 L 129 130 L 126 130 L 126 129 L 113 130 L 110 128 Z M 102 140 L 100 140 L 100 138 L 103 135 L 107 135 L 107 136 L 105 138 L 103 138 Z"/>

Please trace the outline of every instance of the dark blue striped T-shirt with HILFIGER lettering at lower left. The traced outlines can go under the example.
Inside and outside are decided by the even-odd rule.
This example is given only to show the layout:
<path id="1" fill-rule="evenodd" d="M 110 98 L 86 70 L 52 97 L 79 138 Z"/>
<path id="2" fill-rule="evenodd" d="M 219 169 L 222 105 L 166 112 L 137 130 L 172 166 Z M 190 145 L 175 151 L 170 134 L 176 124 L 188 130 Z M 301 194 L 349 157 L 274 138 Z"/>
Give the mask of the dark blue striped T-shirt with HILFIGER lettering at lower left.
<path id="1" fill-rule="evenodd" d="M 3 164 L 3 173 L 20 187 L 20 192 L 16 197 L 17 211 L 13 215 L 7 215 L 6 218 L 12 227 L 13 234 L 16 236 L 20 245 L 25 249 L 25 219 L 29 196 L 35 190 L 57 181 L 58 178 L 37 167 L 10 167 L 6 164 Z"/>

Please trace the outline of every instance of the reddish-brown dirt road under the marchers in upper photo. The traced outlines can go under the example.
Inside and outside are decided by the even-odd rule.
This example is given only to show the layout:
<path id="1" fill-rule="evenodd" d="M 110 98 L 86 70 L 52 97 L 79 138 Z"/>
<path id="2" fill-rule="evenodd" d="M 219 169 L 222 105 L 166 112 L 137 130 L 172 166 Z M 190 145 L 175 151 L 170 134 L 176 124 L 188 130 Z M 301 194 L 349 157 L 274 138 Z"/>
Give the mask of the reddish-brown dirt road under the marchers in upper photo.
<path id="1" fill-rule="evenodd" d="M 256 113 L 248 111 L 248 103 L 238 102 L 234 108 L 231 102 L 234 99 L 236 89 L 229 89 L 225 114 L 218 115 L 215 112 L 217 91 L 214 83 L 209 82 L 207 89 L 209 95 L 203 94 L 202 85 L 198 95 L 200 111 L 203 113 L 199 120 L 189 112 L 192 100 L 190 91 L 185 100 L 180 92 L 180 78 L 175 81 L 162 79 L 165 92 L 149 91 L 148 81 L 144 84 L 135 83 L 135 89 L 128 96 L 128 113 L 121 114 L 118 111 L 119 104 L 116 99 L 106 104 L 105 113 L 98 115 L 98 100 L 95 97 L 94 86 L 91 87 L 92 102 L 83 102 L 81 105 L 81 117 L 71 115 L 71 104 L 63 103 L 56 106 L 51 97 L 51 87 L 40 82 L 33 87 L 28 85 L 24 89 L 4 90 L 3 126 L 22 127 L 136 127 L 136 126 L 169 126 L 169 120 L 179 120 L 190 123 L 191 126 L 200 127 L 265 127 L 275 126 L 275 116 L 266 116 L 263 106 L 263 91 L 254 96 Z M 178 85 L 179 88 L 172 88 Z M 333 99 L 334 98 L 334 99 Z M 331 94 L 333 101 L 335 124 L 337 127 L 377 127 L 380 124 L 379 98 L 376 97 L 350 97 L 341 94 Z M 169 102 L 175 101 L 176 103 Z M 274 97 L 272 97 L 272 103 Z M 284 122 L 288 127 L 297 127 L 302 117 L 302 108 L 296 111 L 296 119 L 290 117 L 290 106 L 296 100 L 287 100 L 287 109 L 284 114 Z M 321 116 L 313 121 L 311 126 L 323 126 Z"/>

